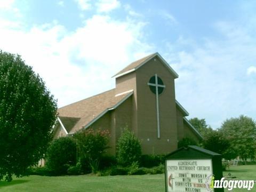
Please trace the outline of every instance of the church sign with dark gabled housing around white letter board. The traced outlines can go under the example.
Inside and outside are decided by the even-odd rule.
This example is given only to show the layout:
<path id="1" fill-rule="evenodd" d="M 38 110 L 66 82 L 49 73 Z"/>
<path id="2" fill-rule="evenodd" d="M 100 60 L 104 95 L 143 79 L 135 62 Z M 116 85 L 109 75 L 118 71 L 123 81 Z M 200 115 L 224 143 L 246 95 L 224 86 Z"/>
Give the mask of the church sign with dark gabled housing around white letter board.
<path id="1" fill-rule="evenodd" d="M 166 192 L 223 191 L 213 188 L 222 178 L 221 155 L 197 146 L 182 147 L 165 157 Z"/>

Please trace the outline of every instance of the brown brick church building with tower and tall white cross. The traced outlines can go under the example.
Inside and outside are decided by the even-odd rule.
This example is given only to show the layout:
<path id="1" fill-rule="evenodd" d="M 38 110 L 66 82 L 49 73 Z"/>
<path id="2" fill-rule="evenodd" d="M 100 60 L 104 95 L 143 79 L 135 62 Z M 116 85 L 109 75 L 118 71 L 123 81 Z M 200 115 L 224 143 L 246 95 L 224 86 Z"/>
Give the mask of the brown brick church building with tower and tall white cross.
<path id="1" fill-rule="evenodd" d="M 175 99 L 178 74 L 159 53 L 131 63 L 114 77 L 115 89 L 58 109 L 54 138 L 89 128 L 108 130 L 110 155 L 115 155 L 125 127 L 141 141 L 142 154 L 167 154 L 182 138 L 202 138 Z"/>

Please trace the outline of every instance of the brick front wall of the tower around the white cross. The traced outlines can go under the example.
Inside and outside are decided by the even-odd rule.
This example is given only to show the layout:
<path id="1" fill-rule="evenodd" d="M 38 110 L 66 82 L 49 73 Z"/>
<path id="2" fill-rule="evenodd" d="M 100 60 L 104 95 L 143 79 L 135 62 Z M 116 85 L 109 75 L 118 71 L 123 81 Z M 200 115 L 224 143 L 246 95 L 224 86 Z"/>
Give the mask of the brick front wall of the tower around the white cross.
<path id="1" fill-rule="evenodd" d="M 150 77 L 157 74 L 166 86 L 159 95 L 160 139 L 157 138 L 156 95 L 150 91 Z M 174 78 L 159 59 L 150 60 L 136 71 L 138 138 L 143 154 L 166 154 L 177 149 L 177 115 Z"/>

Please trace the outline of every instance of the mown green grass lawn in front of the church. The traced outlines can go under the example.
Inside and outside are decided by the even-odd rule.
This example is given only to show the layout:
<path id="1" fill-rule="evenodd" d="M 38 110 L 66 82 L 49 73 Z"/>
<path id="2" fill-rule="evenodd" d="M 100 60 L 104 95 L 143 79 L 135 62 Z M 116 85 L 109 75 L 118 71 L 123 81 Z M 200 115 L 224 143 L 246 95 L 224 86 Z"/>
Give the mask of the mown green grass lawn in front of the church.
<path id="1" fill-rule="evenodd" d="M 231 166 L 223 175 L 231 173 L 236 179 L 256 179 L 256 165 Z M 42 177 L 31 175 L 14 178 L 11 183 L 0 182 L 0 191 L 164 191 L 164 174 L 97 177 L 79 175 Z M 225 190 L 228 191 L 228 190 Z M 247 191 L 235 189 L 233 191 Z M 256 183 L 251 190 L 256 192 Z"/>

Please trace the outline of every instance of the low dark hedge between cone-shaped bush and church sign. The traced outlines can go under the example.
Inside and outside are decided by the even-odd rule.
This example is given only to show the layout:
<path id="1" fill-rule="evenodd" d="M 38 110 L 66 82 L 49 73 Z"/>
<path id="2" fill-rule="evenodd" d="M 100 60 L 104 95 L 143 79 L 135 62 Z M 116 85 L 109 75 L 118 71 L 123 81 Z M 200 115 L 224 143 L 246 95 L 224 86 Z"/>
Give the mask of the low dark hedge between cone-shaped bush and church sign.
<path id="1" fill-rule="evenodd" d="M 142 167 L 153 167 L 158 166 L 160 164 L 164 164 L 165 155 L 142 155 L 141 163 Z"/>

